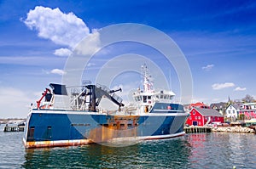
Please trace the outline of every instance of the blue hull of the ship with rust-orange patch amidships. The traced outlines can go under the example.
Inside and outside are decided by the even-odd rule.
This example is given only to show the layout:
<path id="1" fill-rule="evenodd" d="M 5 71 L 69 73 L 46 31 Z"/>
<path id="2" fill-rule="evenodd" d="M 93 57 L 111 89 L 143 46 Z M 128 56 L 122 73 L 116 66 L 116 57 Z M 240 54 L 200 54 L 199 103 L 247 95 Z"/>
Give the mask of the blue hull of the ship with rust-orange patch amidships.
<path id="1" fill-rule="evenodd" d="M 23 141 L 26 148 L 38 148 L 184 135 L 187 113 L 156 108 L 146 115 L 34 109 L 27 117 Z"/>

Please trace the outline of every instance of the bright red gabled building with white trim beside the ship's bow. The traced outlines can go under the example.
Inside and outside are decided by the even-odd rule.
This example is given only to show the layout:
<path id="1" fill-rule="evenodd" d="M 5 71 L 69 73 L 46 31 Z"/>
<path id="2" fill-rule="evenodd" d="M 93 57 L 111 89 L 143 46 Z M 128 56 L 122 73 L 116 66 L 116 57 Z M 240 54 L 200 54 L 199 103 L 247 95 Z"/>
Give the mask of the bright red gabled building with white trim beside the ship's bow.
<path id="1" fill-rule="evenodd" d="M 217 110 L 192 108 L 186 124 L 189 126 L 204 126 L 212 122 L 224 123 L 224 115 L 221 115 Z"/>

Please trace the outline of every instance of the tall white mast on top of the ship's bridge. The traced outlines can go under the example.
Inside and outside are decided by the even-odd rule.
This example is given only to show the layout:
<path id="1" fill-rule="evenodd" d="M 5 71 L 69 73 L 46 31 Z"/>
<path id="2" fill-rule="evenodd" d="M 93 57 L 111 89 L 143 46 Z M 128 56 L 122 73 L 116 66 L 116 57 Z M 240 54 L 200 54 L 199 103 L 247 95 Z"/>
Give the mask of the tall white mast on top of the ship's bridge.
<path id="1" fill-rule="evenodd" d="M 145 93 L 154 92 L 153 82 L 150 81 L 150 75 L 148 74 L 147 65 L 142 65 L 142 75 L 143 75 L 143 89 Z"/>

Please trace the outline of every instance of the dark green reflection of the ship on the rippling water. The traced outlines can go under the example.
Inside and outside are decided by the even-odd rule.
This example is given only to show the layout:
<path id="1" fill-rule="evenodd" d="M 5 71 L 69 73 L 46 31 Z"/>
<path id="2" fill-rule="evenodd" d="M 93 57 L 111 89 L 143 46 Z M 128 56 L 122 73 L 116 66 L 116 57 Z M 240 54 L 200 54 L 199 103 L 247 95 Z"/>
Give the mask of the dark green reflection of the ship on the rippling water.
<path id="1" fill-rule="evenodd" d="M 187 168 L 191 146 L 185 138 L 145 141 L 128 147 L 26 149 L 24 168 Z"/>

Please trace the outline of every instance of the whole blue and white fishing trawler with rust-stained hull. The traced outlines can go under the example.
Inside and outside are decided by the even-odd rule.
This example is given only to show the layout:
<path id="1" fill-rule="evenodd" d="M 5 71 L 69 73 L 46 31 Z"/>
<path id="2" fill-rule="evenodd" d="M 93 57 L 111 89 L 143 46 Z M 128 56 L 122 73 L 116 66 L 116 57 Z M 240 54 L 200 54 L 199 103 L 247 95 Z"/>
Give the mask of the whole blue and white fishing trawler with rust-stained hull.
<path id="1" fill-rule="evenodd" d="M 36 107 L 27 115 L 23 142 L 41 148 L 122 140 L 163 139 L 183 136 L 189 116 L 183 105 L 173 104 L 175 93 L 154 90 L 146 65 L 142 66 L 143 89 L 133 93 L 134 103 L 125 105 L 116 94 L 121 88 L 83 82 L 81 87 L 50 83 Z M 68 100 L 58 102 L 58 99 Z M 103 109 L 107 100 L 116 110 Z M 64 104 L 63 104 L 64 103 Z M 67 104 L 68 103 L 68 104 Z"/>

